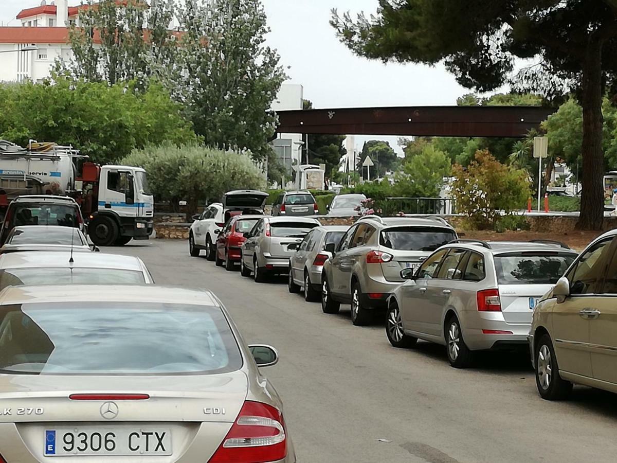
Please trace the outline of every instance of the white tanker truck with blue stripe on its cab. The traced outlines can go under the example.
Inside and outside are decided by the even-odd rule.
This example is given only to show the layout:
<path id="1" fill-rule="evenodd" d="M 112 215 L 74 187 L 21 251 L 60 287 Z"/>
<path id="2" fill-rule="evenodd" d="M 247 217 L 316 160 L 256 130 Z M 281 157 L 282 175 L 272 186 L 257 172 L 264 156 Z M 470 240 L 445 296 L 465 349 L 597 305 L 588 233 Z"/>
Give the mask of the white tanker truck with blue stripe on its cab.
<path id="1" fill-rule="evenodd" d="M 154 198 L 146 171 L 85 159 L 70 146 L 31 143 L 23 149 L 0 141 L 0 212 L 22 194 L 65 195 L 80 204 L 88 235 L 97 246 L 147 240 L 152 234 Z"/>

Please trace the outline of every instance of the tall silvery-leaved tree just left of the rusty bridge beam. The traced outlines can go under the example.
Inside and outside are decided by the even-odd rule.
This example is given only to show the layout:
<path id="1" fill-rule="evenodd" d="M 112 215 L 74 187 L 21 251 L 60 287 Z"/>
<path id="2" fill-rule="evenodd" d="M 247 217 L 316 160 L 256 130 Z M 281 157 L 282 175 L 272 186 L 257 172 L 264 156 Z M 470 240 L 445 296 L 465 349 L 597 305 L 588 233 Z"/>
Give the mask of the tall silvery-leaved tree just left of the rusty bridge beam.
<path id="1" fill-rule="evenodd" d="M 270 31 L 260 0 L 188 0 L 170 88 L 198 135 L 219 149 L 271 151 L 276 115 L 270 107 L 286 78 L 265 45 Z"/>

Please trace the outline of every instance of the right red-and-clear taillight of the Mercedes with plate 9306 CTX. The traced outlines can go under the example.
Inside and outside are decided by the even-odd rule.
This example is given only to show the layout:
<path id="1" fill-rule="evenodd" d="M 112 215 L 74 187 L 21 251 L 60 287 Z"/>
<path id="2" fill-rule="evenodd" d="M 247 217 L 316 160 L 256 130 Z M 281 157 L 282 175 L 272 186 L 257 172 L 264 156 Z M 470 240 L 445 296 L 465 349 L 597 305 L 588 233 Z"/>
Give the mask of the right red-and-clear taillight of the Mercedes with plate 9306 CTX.
<path id="1" fill-rule="evenodd" d="M 283 415 L 275 407 L 246 401 L 209 463 L 260 463 L 287 456 Z"/>

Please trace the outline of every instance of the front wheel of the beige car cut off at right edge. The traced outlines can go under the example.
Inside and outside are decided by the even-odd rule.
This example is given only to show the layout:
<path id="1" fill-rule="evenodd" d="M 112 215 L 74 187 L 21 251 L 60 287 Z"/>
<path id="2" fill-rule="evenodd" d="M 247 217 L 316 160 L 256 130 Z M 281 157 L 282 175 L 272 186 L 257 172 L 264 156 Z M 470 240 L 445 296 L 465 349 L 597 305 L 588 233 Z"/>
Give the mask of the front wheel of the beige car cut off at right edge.
<path id="1" fill-rule="evenodd" d="M 572 383 L 559 375 L 557 357 L 549 335 L 540 338 L 536 346 L 536 386 L 540 397 L 546 400 L 563 400 L 572 391 Z"/>

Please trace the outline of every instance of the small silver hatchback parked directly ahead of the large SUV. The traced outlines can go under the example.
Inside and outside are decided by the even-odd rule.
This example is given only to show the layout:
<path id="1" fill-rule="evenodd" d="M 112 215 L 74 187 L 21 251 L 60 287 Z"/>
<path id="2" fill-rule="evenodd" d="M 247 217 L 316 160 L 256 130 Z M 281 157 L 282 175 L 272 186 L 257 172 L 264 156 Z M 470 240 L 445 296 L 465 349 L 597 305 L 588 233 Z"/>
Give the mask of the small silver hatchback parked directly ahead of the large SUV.
<path id="1" fill-rule="evenodd" d="M 296 252 L 289 258 L 290 293 L 304 292 L 306 301 L 318 301 L 323 264 L 332 256 L 326 251 L 328 244 L 338 246 L 349 227 L 329 225 L 315 227 L 304 237 Z"/>

